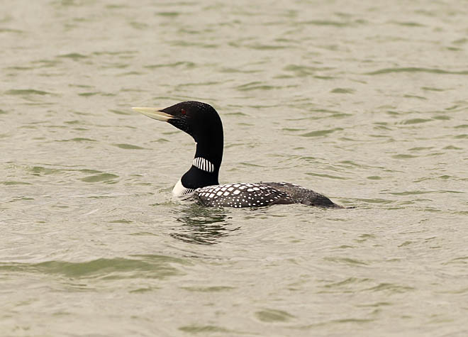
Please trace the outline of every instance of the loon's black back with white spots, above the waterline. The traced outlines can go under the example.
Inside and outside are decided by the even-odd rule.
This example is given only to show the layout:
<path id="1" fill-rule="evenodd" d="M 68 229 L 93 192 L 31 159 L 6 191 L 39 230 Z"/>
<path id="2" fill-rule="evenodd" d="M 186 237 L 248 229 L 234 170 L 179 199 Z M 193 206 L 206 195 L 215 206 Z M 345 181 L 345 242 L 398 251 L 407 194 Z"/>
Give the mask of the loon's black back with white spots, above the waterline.
<path id="1" fill-rule="evenodd" d="M 213 207 L 262 207 L 294 203 L 338 207 L 322 194 L 286 182 L 238 182 L 206 186 L 196 189 L 195 196 L 204 206 Z"/>

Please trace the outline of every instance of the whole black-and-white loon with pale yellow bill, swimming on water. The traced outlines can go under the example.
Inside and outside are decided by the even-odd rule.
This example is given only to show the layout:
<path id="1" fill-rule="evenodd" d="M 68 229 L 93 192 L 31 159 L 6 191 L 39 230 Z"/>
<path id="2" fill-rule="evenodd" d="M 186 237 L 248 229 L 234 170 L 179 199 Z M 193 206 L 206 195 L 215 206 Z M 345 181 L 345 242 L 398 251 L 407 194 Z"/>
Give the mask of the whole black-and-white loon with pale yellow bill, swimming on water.
<path id="1" fill-rule="evenodd" d="M 184 101 L 165 109 L 132 108 L 157 121 L 165 121 L 194 138 L 196 152 L 190 169 L 174 186 L 177 197 L 193 196 L 214 207 L 261 207 L 273 204 L 305 204 L 342 208 L 322 194 L 288 182 L 219 184 L 223 158 L 223 124 L 213 106 Z"/>

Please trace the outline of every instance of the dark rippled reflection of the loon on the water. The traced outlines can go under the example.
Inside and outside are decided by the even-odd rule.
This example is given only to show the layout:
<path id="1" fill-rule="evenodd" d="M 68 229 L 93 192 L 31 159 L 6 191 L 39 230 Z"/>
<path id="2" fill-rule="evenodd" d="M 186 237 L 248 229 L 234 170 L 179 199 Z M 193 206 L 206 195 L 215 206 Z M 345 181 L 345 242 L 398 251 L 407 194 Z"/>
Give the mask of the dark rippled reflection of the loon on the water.
<path id="1" fill-rule="evenodd" d="M 176 217 L 182 226 L 174 228 L 177 232 L 170 235 L 187 243 L 214 245 L 239 229 L 233 228 L 228 219 L 228 211 L 224 209 L 198 204 L 184 205 L 177 209 Z"/>

